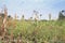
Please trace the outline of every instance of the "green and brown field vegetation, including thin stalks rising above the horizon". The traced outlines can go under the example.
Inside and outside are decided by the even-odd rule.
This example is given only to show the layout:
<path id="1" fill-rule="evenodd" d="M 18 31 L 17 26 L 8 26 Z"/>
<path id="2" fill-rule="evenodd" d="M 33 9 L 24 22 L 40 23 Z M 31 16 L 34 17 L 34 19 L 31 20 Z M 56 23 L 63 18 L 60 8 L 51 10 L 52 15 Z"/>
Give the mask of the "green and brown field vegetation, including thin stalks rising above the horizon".
<path id="1" fill-rule="evenodd" d="M 2 32 L 3 28 L 0 28 L 0 43 L 65 43 L 65 20 L 51 20 L 51 14 L 49 18 L 50 20 L 25 20 L 23 15 L 18 20 L 16 15 L 14 19 L 8 16 L 6 30 Z M 2 19 L 0 17 L 0 26 Z"/>

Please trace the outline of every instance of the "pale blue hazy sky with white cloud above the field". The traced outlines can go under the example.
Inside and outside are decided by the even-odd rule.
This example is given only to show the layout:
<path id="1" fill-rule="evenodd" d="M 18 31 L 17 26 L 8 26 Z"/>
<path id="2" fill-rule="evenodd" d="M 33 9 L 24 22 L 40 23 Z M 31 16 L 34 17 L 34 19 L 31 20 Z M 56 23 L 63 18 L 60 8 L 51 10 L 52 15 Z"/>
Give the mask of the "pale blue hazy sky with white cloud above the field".
<path id="1" fill-rule="evenodd" d="M 52 19 L 57 19 L 58 12 L 65 10 L 65 0 L 0 0 L 0 10 L 3 4 L 8 8 L 8 14 L 18 18 L 25 15 L 25 18 L 34 16 L 34 10 L 42 14 L 41 19 L 49 19 L 51 14 Z M 38 15 L 39 15 L 38 14 Z"/>

